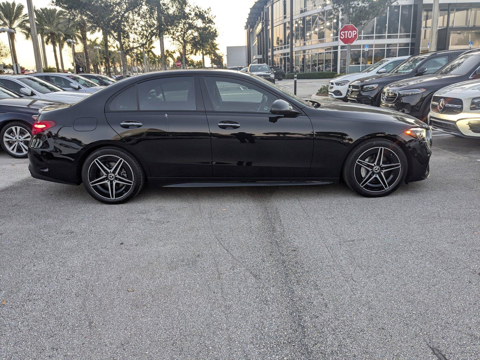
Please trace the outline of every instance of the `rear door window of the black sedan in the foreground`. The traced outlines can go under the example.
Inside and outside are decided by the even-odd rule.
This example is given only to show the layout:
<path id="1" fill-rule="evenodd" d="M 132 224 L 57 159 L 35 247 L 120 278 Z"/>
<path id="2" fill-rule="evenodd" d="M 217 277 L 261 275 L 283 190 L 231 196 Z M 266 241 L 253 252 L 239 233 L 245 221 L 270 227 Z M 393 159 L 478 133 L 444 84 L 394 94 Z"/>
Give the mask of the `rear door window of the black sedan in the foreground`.
<path id="1" fill-rule="evenodd" d="M 140 110 L 196 110 L 193 76 L 176 76 L 137 84 Z"/>

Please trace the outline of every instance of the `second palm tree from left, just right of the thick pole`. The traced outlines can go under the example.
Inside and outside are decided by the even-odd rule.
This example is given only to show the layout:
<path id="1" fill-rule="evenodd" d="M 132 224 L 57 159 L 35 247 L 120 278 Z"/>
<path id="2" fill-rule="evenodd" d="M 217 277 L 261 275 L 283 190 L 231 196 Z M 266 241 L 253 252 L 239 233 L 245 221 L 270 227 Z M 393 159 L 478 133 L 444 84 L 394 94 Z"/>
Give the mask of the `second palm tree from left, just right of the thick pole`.
<path id="1" fill-rule="evenodd" d="M 65 30 L 68 23 L 63 10 L 55 8 L 40 8 L 35 11 L 38 28 L 45 35 L 45 42 L 52 44 L 53 55 L 57 71 L 60 72 L 59 60 L 57 57 L 57 43 L 64 36 L 62 30 Z M 60 49 L 61 51 L 61 49 Z"/>

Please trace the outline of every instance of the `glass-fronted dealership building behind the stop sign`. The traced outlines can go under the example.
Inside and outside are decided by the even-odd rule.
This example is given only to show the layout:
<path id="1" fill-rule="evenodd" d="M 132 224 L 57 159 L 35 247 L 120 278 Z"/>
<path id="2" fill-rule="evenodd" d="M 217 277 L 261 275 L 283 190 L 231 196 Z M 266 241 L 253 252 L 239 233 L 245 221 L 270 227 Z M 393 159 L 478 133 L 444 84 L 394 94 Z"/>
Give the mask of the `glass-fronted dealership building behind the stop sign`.
<path id="1" fill-rule="evenodd" d="M 298 72 L 345 72 L 347 46 L 338 41 L 341 27 L 331 0 L 257 0 L 245 25 L 247 62 L 273 64 L 286 72 L 293 72 L 292 66 Z M 434 28 L 437 47 L 430 49 L 432 0 L 397 1 L 360 31 L 350 48 L 349 71 L 389 57 L 468 48 L 470 41 L 479 48 L 480 2 L 440 0 Z"/>

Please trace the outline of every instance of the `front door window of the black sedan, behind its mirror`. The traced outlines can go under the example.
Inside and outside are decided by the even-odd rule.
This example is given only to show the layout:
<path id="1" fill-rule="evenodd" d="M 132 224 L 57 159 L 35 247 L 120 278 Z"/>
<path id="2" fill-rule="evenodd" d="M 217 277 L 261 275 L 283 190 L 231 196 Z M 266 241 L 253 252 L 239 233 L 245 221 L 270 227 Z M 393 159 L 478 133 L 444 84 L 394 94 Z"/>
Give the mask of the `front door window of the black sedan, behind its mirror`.
<path id="1" fill-rule="evenodd" d="M 205 76 L 205 82 L 216 111 L 270 112 L 278 98 L 242 80 Z"/>

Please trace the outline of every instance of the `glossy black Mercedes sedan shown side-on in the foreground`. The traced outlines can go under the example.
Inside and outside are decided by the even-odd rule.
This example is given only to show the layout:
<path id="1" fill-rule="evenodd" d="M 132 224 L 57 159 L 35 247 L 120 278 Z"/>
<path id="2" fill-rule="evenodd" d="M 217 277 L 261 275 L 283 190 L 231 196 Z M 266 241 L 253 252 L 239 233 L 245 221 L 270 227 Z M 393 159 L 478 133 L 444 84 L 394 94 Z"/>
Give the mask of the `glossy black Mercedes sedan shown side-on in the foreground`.
<path id="1" fill-rule="evenodd" d="M 37 179 L 122 203 L 159 186 L 325 184 L 364 196 L 429 176 L 432 134 L 397 111 L 306 102 L 228 70 L 146 73 L 47 108 L 28 157 Z"/>

